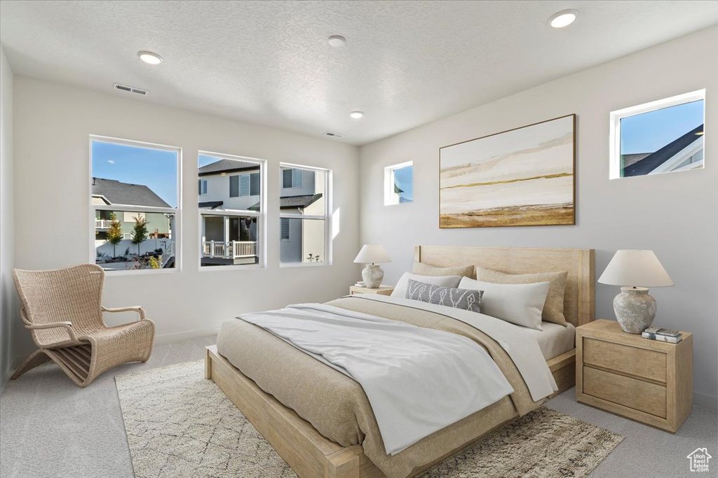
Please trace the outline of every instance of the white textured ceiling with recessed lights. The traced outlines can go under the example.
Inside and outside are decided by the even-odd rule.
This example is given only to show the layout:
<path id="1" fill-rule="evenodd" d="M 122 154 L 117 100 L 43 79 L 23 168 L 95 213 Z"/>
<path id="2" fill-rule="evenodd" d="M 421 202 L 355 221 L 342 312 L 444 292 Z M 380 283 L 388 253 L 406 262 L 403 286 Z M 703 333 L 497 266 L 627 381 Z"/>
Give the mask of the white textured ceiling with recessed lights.
<path id="1" fill-rule="evenodd" d="M 709 27 L 718 2 L 4 0 L 0 20 L 16 74 L 363 144 Z"/>

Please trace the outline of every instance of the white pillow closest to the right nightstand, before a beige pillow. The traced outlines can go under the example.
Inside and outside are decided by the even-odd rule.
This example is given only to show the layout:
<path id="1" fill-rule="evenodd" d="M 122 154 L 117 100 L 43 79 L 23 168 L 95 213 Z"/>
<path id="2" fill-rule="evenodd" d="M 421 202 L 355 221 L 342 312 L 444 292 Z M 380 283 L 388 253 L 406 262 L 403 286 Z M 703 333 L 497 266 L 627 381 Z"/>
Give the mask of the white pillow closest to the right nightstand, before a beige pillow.
<path id="1" fill-rule="evenodd" d="M 484 291 L 481 296 L 481 313 L 523 325 L 536 330 L 541 328 L 541 314 L 544 312 L 546 295 L 551 282 L 534 284 L 495 284 L 462 277 L 460 289 Z"/>

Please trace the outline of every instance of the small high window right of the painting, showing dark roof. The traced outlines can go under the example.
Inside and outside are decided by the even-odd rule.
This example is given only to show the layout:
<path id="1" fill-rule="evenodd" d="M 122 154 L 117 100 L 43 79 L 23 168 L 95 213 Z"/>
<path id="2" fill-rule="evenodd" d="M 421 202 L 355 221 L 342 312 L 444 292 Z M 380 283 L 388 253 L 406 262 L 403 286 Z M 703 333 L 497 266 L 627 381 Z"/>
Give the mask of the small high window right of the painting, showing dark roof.
<path id="1" fill-rule="evenodd" d="M 610 178 L 703 168 L 706 90 L 610 114 Z"/>

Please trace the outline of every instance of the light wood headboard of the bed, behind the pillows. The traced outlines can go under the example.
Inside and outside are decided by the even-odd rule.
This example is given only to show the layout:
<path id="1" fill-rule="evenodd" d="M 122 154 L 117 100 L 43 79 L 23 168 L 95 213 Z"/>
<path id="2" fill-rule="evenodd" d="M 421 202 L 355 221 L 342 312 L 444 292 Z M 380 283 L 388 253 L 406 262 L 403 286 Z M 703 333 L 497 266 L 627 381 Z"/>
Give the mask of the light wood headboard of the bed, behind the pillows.
<path id="1" fill-rule="evenodd" d="M 595 319 L 594 249 L 416 246 L 414 260 L 436 267 L 473 264 L 508 274 L 567 270 L 569 275 L 564 293 L 566 320 L 579 326 Z"/>

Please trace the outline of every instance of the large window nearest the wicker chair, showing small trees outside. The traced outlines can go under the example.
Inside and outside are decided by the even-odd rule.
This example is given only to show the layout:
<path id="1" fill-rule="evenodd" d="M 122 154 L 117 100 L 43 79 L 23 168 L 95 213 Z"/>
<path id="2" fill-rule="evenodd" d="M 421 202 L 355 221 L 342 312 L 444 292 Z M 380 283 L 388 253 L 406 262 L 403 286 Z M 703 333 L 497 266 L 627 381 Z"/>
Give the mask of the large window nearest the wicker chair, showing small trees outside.
<path id="1" fill-rule="evenodd" d="M 182 150 L 90 136 L 92 260 L 107 271 L 176 269 Z"/>

